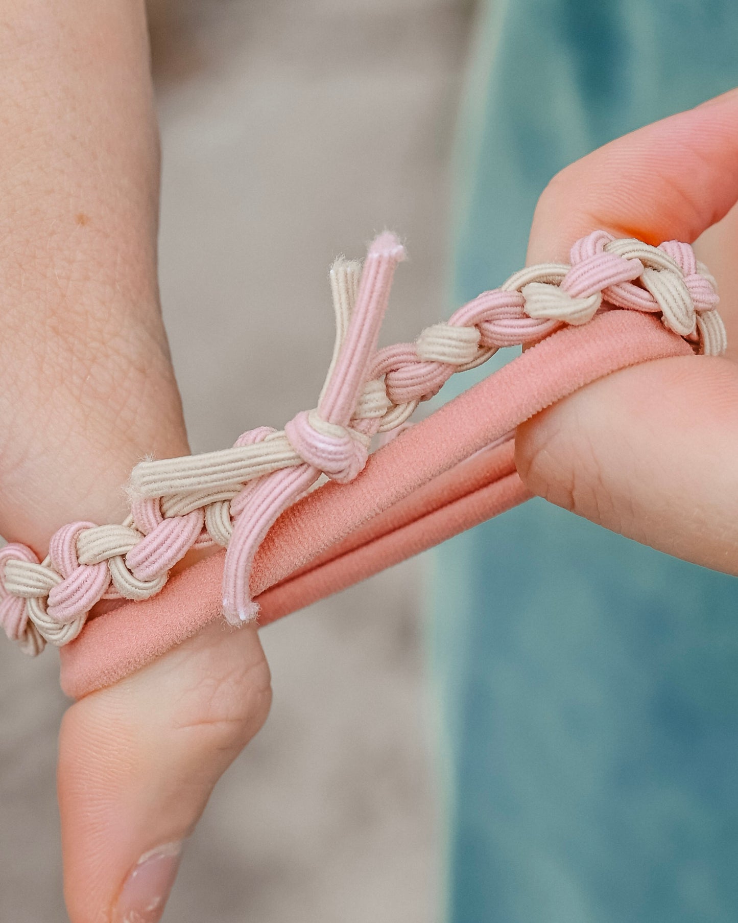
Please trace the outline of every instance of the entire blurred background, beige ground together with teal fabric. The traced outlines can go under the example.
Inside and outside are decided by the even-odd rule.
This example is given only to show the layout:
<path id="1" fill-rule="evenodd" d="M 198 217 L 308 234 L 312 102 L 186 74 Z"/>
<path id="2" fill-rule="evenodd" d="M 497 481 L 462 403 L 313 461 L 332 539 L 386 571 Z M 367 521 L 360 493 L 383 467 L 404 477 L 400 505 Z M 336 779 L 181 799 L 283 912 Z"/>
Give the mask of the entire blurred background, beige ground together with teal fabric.
<path id="1" fill-rule="evenodd" d="M 413 338 L 518 269 L 558 170 L 738 84 L 734 0 L 151 0 L 150 18 L 161 297 L 195 451 L 315 400 L 337 254 L 402 234 L 383 342 Z M 430 561 L 263 632 L 271 716 L 164 920 L 734 923 L 735 581 L 535 500 Z M 0 695 L 0 920 L 64 921 L 54 655 L 0 645 Z"/>

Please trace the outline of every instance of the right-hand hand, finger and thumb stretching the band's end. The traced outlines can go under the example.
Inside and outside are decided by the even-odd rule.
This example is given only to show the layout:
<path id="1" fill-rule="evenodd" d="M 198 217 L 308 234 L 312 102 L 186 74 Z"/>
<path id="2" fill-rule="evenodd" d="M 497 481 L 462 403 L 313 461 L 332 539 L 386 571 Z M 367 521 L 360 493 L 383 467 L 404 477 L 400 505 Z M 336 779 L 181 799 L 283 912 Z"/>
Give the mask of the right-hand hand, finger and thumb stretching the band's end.
<path id="1" fill-rule="evenodd" d="M 650 244 L 691 243 L 738 199 L 736 162 L 735 91 L 619 138 L 553 179 L 529 259 L 566 258 L 599 227 Z M 720 292 L 729 334 L 738 334 L 735 295 Z M 534 493 L 738 574 L 738 365 L 696 356 L 624 369 L 519 427 L 516 446 Z"/>

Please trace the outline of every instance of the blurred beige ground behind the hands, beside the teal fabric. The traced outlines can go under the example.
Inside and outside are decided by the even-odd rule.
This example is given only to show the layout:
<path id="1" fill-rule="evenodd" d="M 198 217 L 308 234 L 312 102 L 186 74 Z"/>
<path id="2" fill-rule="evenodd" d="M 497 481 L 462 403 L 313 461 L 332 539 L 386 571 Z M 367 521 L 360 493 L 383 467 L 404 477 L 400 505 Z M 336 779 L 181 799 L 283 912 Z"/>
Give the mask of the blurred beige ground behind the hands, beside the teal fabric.
<path id="1" fill-rule="evenodd" d="M 465 0 L 158 0 L 161 296 L 193 450 L 315 402 L 327 266 L 391 227 L 383 340 L 448 313 Z M 441 890 L 419 562 L 263 632 L 268 725 L 212 798 L 165 920 L 432 921 Z M 65 920 L 53 653 L 0 646 L 0 921 Z"/>

